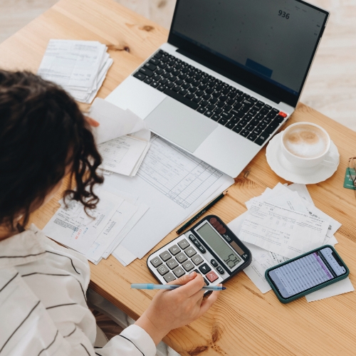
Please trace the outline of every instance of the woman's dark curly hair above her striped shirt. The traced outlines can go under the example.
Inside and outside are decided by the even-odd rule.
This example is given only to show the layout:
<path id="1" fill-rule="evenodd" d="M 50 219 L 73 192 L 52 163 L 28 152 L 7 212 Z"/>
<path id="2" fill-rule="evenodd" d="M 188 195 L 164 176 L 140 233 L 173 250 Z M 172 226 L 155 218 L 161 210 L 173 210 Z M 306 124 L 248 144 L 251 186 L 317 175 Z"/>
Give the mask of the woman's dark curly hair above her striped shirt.
<path id="1" fill-rule="evenodd" d="M 33 73 L 0 70 L 0 224 L 14 229 L 22 215 L 25 226 L 68 167 L 72 183 L 64 198 L 80 201 L 85 211 L 95 208 L 101 162 L 90 126 L 70 95 Z"/>

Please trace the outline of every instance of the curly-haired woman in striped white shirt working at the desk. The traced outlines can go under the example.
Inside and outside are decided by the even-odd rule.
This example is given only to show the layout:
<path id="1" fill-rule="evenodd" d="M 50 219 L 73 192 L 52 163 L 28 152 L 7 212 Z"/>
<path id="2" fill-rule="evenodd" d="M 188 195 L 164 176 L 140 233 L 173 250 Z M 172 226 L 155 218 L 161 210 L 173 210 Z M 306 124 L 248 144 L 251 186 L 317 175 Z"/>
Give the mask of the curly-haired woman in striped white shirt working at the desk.
<path id="1" fill-rule="evenodd" d="M 93 124 L 93 121 L 92 121 Z M 202 300 L 197 273 L 159 291 L 135 325 L 94 348 L 95 318 L 85 293 L 88 261 L 28 224 L 70 174 L 64 198 L 90 214 L 101 157 L 90 125 L 74 100 L 53 83 L 26 72 L 0 70 L 0 355 L 155 355 L 174 328 L 199 318 L 218 297 Z"/>

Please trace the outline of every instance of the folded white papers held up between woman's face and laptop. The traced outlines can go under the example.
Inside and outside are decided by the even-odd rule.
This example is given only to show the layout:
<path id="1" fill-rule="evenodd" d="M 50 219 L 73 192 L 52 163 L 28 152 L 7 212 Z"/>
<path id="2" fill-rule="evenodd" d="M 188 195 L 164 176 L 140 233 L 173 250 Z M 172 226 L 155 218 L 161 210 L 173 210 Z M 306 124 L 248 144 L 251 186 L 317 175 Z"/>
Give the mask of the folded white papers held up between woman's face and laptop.
<path id="1" fill-rule="evenodd" d="M 103 157 L 101 168 L 135 176 L 150 148 L 151 132 L 145 122 L 130 110 L 99 98 L 94 100 L 89 115 L 100 123 L 93 132 Z"/>

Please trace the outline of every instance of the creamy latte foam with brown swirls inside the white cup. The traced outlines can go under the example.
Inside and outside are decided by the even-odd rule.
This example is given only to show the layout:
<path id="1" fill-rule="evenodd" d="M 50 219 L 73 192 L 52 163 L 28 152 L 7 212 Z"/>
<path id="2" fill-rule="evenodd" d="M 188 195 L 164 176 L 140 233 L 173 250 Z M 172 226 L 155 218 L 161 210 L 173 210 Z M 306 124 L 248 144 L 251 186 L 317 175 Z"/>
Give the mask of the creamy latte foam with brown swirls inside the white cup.
<path id="1" fill-rule="evenodd" d="M 328 137 L 313 125 L 296 125 L 283 135 L 283 145 L 295 156 L 315 158 L 328 149 Z"/>

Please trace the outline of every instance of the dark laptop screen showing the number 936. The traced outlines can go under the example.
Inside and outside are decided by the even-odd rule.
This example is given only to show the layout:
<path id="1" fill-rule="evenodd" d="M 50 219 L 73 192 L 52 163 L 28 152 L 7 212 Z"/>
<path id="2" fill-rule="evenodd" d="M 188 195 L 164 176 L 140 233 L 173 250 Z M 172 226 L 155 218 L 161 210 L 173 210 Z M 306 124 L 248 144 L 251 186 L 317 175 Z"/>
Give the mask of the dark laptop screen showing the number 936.
<path id="1" fill-rule="evenodd" d="M 327 17 L 298 0 L 178 0 L 171 33 L 298 95 Z"/>

